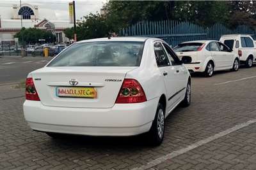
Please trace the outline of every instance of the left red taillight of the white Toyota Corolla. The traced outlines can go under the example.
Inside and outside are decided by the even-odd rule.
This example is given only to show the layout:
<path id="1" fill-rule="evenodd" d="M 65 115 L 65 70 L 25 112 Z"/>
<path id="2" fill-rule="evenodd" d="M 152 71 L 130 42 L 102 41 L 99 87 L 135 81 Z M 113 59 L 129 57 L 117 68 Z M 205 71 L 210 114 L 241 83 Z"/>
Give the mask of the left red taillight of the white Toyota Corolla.
<path id="1" fill-rule="evenodd" d="M 36 92 L 36 87 L 33 82 L 33 78 L 26 79 L 26 100 L 29 101 L 40 101 Z"/>

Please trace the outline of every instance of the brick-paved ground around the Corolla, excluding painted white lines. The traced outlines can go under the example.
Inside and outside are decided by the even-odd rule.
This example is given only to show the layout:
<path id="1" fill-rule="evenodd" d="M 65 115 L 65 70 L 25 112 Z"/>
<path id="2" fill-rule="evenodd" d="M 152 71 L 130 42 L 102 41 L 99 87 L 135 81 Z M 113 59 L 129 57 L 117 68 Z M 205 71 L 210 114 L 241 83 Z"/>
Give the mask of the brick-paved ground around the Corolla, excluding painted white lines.
<path id="1" fill-rule="evenodd" d="M 23 91 L 0 86 L 0 169 L 131 169 L 256 118 L 256 67 L 194 76 L 193 102 L 166 120 L 163 145 L 152 148 L 143 136 L 68 137 L 54 140 L 33 132 L 24 121 Z M 166 160 L 154 169 L 256 169 L 256 125 L 252 124 Z"/>

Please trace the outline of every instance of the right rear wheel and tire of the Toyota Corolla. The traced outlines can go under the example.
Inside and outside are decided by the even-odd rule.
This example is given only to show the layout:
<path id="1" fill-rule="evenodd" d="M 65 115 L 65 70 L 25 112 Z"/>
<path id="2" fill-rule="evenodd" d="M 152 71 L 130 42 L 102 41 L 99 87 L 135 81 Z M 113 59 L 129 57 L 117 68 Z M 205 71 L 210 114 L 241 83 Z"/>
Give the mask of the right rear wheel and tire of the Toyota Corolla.
<path id="1" fill-rule="evenodd" d="M 159 146 L 164 138 L 164 107 L 158 103 L 156 116 L 152 122 L 150 131 L 148 132 L 148 141 L 153 146 Z"/>

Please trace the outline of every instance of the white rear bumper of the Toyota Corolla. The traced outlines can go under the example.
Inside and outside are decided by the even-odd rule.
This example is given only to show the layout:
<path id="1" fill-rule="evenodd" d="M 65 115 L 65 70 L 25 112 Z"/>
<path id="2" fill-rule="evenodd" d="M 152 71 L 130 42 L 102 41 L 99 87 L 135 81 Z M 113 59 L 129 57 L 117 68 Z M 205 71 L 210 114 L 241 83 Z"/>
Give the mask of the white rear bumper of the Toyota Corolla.
<path id="1" fill-rule="evenodd" d="M 158 98 L 113 108 L 63 108 L 25 101 L 24 117 L 31 129 L 92 136 L 132 136 L 150 130 Z"/>

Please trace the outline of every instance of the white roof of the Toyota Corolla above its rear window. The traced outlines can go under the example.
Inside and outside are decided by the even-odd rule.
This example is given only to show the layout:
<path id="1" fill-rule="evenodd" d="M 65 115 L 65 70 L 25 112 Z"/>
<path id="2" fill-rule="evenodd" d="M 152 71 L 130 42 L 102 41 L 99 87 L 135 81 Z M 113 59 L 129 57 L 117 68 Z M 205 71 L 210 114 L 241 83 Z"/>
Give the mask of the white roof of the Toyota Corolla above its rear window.
<path id="1" fill-rule="evenodd" d="M 99 41 L 138 41 L 138 42 L 144 42 L 147 39 L 152 39 L 154 41 L 160 40 L 163 41 L 162 39 L 159 38 L 150 38 L 150 37 L 134 37 L 134 36 L 127 36 L 127 37 L 111 37 L 110 39 L 108 38 L 95 38 L 95 39 L 86 39 L 82 41 L 78 41 L 77 43 L 89 43 L 89 42 L 99 42 Z"/>

